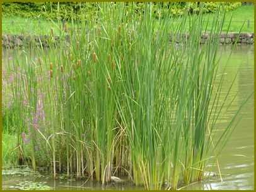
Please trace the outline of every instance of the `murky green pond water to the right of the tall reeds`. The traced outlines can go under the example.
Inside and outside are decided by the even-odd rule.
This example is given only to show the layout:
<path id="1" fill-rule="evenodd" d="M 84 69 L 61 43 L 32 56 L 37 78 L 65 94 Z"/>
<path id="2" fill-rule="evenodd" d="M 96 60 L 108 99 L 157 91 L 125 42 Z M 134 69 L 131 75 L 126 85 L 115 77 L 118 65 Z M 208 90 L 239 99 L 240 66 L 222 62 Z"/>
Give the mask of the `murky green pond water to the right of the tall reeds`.
<path id="1" fill-rule="evenodd" d="M 231 51 L 232 50 L 232 51 Z M 231 56 L 229 58 L 229 53 Z M 223 85 L 223 97 L 228 92 L 230 83 L 237 73 L 236 80 L 228 95 L 233 100 L 228 110 L 223 110 L 218 127 L 225 127 L 238 107 L 253 91 L 253 46 L 223 46 L 219 50 L 221 65 L 226 65 L 226 77 Z M 223 65 L 224 66 L 224 65 Z M 223 182 L 219 178 L 204 181 L 202 189 L 253 189 L 254 185 L 254 130 L 253 130 L 253 97 L 240 112 L 240 122 L 233 132 L 230 141 L 219 157 Z M 216 164 L 209 165 L 215 168 Z M 217 171 L 217 170 L 216 170 Z M 199 184 L 190 189 L 198 189 Z"/>

